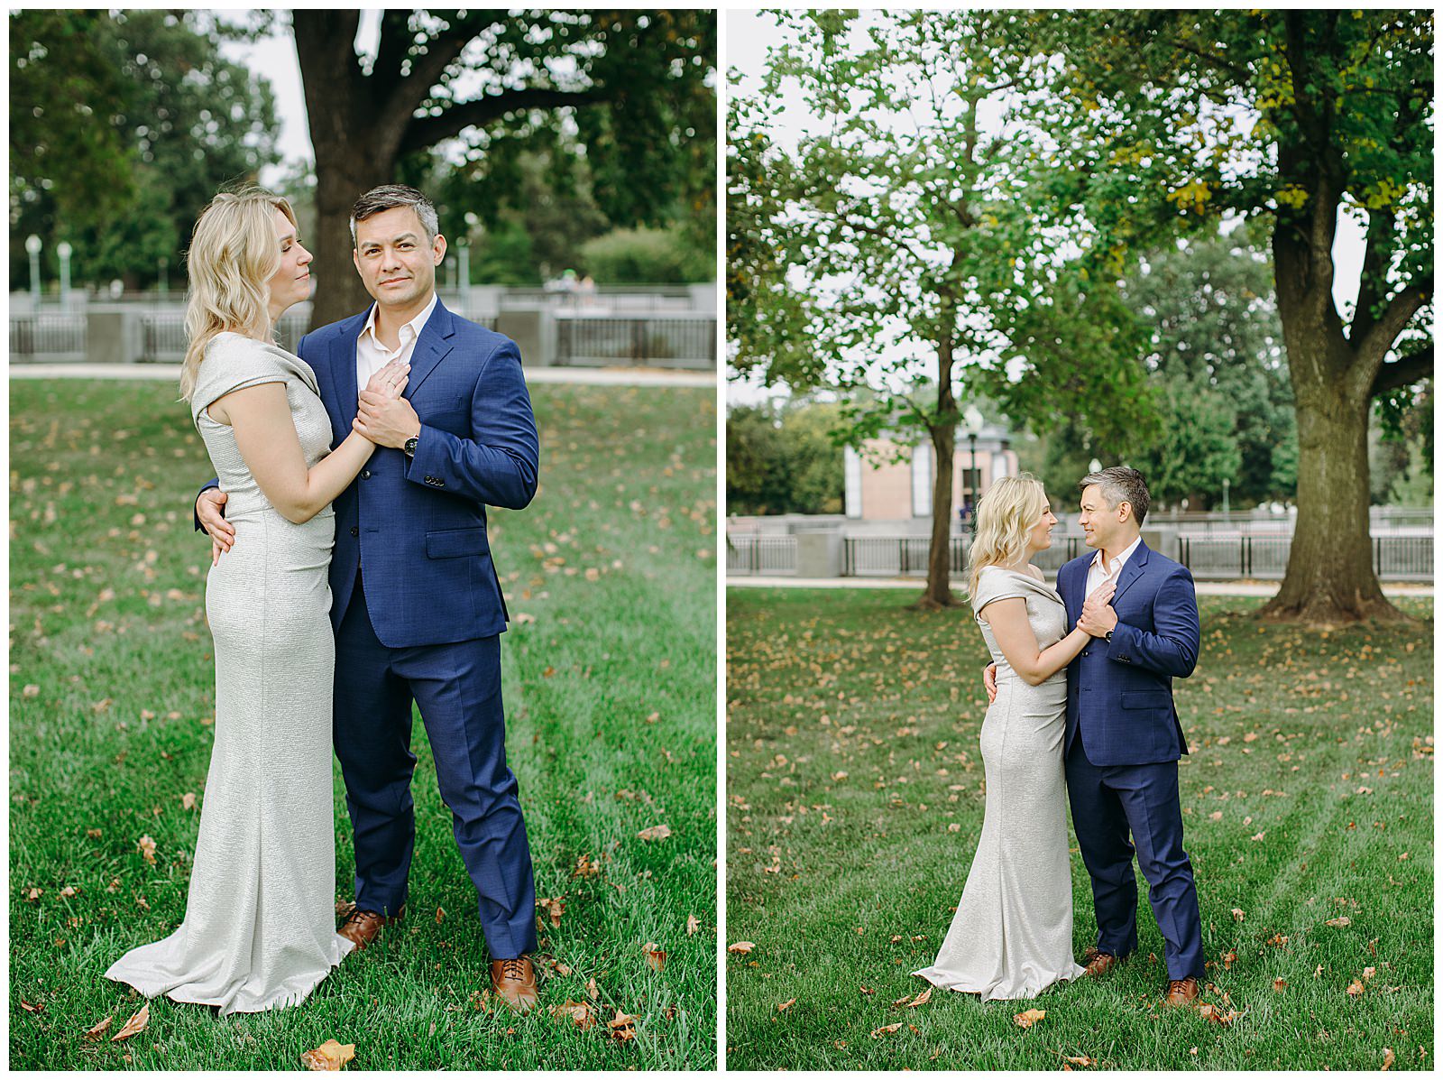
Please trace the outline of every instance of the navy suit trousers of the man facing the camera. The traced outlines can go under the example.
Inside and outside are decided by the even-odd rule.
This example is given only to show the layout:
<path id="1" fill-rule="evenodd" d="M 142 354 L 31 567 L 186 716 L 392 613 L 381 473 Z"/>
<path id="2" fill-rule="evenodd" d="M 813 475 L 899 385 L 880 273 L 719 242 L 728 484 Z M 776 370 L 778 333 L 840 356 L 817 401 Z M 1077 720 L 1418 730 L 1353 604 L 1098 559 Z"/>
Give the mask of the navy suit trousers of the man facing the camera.
<path id="1" fill-rule="evenodd" d="M 535 879 L 506 767 L 499 637 L 387 648 L 359 579 L 336 630 L 333 732 L 355 833 L 356 907 L 394 914 L 405 904 L 416 848 L 413 700 L 476 885 L 486 947 L 498 960 L 534 951 Z"/>

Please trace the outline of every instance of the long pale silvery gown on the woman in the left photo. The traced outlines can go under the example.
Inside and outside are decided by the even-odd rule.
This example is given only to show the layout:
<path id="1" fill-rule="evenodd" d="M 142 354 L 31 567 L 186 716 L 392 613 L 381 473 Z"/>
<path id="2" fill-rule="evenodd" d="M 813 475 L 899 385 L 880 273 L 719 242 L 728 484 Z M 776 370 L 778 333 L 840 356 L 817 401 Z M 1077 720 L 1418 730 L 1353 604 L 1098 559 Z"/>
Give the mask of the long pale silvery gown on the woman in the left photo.
<path id="1" fill-rule="evenodd" d="M 105 976 L 147 998 L 260 1012 L 304 1001 L 351 941 L 335 931 L 330 696 L 335 638 L 326 572 L 330 507 L 287 521 L 261 494 L 234 432 L 206 414 L 222 394 L 283 383 L 306 465 L 330 452 L 316 375 L 238 334 L 206 348 L 192 416 L 227 492 L 235 546 L 205 586 L 215 638 L 215 745 L 185 921 Z"/>

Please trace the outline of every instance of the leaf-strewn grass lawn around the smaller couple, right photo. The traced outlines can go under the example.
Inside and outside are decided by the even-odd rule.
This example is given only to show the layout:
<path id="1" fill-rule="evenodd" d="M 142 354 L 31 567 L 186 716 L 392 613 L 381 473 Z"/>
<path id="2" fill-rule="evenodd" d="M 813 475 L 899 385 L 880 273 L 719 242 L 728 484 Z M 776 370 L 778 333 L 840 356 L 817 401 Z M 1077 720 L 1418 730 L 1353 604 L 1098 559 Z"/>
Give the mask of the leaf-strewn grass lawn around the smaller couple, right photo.
<path id="1" fill-rule="evenodd" d="M 911 972 L 983 820 L 983 638 L 890 591 L 727 595 L 730 1068 L 1433 1068 L 1433 625 L 1304 632 L 1205 598 L 1177 707 L 1203 998 L 1159 1006 L 1163 941 L 1104 980 L 981 1005 Z M 1097 924 L 1071 839 L 1074 951 Z M 1330 924 L 1346 920 L 1346 924 Z M 1356 982 L 1349 993 L 1349 985 Z M 1046 1015 L 1016 1025 L 1027 1008 Z M 895 1031 L 880 1028 L 899 1025 Z M 873 1034 L 879 1032 L 879 1034 Z"/>

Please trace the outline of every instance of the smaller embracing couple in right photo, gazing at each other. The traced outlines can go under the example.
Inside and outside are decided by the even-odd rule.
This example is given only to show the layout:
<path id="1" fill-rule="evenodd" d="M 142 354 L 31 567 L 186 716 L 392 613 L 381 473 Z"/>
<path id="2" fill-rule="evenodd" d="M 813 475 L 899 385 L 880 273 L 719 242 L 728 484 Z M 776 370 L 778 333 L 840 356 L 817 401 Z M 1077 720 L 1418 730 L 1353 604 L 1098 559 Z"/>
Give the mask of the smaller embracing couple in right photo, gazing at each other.
<path id="1" fill-rule="evenodd" d="M 983 1001 L 1107 975 L 1137 949 L 1136 853 L 1165 943 L 1163 1002 L 1190 1006 L 1202 920 L 1182 846 L 1188 746 L 1172 680 L 1198 663 L 1198 599 L 1188 569 L 1141 540 L 1150 495 L 1137 469 L 1101 469 L 1078 487 L 1095 552 L 1066 563 L 1056 589 L 1030 562 L 1056 524 L 1042 484 L 1000 479 L 977 508 L 970 599 L 993 657 L 987 804 L 957 915 L 916 975 Z M 1085 967 L 1072 957 L 1065 801 L 1097 913 Z"/>

